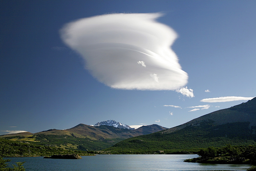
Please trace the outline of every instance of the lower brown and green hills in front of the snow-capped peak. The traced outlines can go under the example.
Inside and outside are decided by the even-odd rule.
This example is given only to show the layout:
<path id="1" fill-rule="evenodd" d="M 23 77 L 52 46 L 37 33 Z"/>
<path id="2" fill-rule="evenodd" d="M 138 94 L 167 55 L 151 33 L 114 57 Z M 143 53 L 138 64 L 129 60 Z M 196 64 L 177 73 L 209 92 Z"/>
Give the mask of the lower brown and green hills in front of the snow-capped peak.
<path id="1" fill-rule="evenodd" d="M 116 123 L 114 124 L 118 125 Z M 142 126 L 134 130 L 107 125 L 90 126 L 86 124 L 78 124 L 77 126 L 66 130 L 50 129 L 34 134 L 30 132 L 22 132 L 0 135 L 0 138 L 40 145 L 57 146 L 66 149 L 90 151 L 108 148 L 126 138 L 150 134 L 165 129 L 168 128 L 156 124 Z"/>

